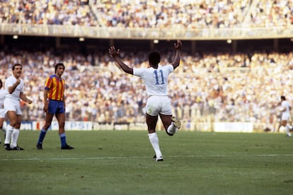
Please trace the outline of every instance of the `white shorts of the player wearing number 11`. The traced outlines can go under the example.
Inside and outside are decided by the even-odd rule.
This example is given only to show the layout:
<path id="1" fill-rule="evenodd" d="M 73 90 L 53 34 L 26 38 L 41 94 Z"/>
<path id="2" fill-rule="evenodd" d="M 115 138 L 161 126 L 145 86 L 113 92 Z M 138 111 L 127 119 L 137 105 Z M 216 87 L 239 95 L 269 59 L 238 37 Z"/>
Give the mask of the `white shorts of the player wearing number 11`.
<path id="1" fill-rule="evenodd" d="M 146 101 L 146 113 L 151 116 L 158 116 L 159 114 L 172 115 L 170 98 L 166 95 L 152 95 Z"/>

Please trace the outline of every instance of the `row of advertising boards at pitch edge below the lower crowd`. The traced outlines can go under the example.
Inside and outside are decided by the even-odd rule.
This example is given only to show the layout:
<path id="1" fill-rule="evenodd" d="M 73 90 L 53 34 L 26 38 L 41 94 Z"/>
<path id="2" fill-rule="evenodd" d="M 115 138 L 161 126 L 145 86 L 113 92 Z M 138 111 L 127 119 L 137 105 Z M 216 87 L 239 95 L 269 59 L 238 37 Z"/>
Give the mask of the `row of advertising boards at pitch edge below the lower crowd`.
<path id="1" fill-rule="evenodd" d="M 40 131 L 45 122 L 22 122 L 21 130 L 37 130 Z M 4 124 L 5 126 L 6 124 Z M 214 132 L 260 132 L 265 129 L 266 124 L 253 124 L 251 122 L 182 122 L 181 131 L 214 131 Z M 49 130 L 58 130 L 58 122 L 53 121 Z M 65 129 L 67 131 L 120 131 L 120 130 L 142 130 L 146 131 L 145 123 L 129 123 L 129 122 L 66 122 Z M 163 124 L 159 120 L 157 131 L 165 131 Z"/>

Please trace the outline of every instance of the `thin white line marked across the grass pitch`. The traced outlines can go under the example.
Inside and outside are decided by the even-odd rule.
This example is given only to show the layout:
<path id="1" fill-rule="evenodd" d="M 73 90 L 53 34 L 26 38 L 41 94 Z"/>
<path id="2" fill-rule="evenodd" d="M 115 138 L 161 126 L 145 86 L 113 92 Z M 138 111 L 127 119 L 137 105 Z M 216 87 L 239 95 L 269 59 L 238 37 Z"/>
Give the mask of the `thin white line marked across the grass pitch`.
<path id="1" fill-rule="evenodd" d="M 260 155 L 171 155 L 166 158 L 214 158 L 214 157 L 281 157 L 293 156 L 293 154 L 260 154 Z M 113 157 L 92 157 L 92 158 L 4 158 L 0 161 L 66 161 L 66 160 L 103 160 L 103 159 L 125 159 L 125 158 L 151 158 L 149 156 L 113 156 Z"/>

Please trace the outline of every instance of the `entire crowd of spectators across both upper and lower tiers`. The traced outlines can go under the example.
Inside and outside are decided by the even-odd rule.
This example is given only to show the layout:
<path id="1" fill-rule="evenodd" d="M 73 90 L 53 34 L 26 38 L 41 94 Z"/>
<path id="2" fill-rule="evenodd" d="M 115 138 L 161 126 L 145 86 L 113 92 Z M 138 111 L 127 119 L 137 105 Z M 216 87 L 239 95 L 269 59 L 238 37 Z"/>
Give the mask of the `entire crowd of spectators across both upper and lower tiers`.
<path id="1" fill-rule="evenodd" d="M 0 23 L 81 25 L 119 28 L 247 28 L 293 25 L 293 1 L 0 1 Z M 170 52 L 166 59 L 172 55 Z M 145 54 L 122 53 L 132 66 L 148 66 Z M 66 66 L 67 119 L 144 122 L 146 94 L 137 78 L 117 68 L 108 53 L 84 56 L 50 49 L 0 50 L 1 79 L 23 64 L 33 104 L 23 119 L 43 120 L 42 92 L 54 64 Z M 161 64 L 167 64 L 162 61 Z M 280 95 L 292 96 L 293 53 L 183 54 L 169 90 L 174 113 L 183 121 L 268 122 L 277 119 Z M 292 104 L 293 105 L 293 104 Z"/>

